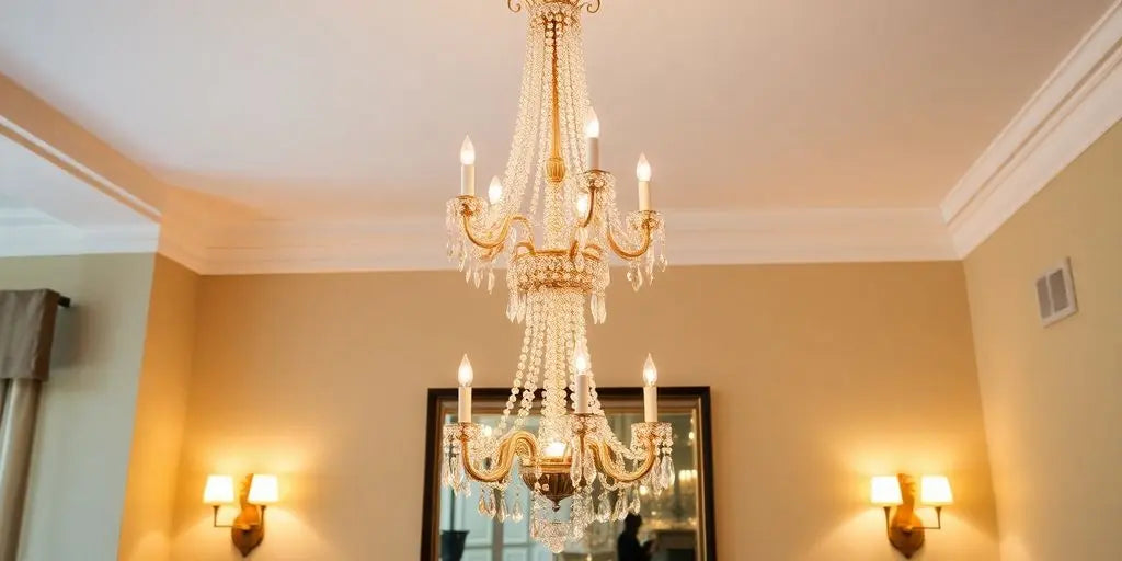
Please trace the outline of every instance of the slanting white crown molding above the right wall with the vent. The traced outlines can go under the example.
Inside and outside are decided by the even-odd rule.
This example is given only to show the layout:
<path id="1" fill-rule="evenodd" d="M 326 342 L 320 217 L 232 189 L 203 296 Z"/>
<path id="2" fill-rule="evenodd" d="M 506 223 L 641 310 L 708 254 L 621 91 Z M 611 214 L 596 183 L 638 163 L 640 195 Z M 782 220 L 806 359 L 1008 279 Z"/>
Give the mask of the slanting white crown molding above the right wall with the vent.
<path id="1" fill-rule="evenodd" d="M 1122 0 L 1114 2 L 971 166 L 940 208 L 965 258 L 1122 119 Z"/>

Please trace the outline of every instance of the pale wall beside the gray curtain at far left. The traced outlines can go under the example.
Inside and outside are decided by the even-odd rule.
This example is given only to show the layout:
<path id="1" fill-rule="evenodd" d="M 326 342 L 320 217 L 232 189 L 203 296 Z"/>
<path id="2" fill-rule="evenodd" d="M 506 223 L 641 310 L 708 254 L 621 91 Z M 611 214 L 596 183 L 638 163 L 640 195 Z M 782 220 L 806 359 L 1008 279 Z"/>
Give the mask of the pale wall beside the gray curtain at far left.
<path id="1" fill-rule="evenodd" d="M 117 558 L 153 255 L 0 259 L 0 288 L 54 288 L 59 314 L 43 393 L 20 558 Z"/>

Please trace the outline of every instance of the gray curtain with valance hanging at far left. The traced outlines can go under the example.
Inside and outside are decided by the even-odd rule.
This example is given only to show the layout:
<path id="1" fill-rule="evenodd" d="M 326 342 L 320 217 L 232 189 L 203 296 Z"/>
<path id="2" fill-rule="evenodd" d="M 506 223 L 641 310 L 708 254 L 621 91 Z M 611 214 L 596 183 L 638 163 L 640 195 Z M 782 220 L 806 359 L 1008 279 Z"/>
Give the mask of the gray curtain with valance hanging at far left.
<path id="1" fill-rule="evenodd" d="M 0 561 L 16 561 L 58 293 L 0 291 Z"/>

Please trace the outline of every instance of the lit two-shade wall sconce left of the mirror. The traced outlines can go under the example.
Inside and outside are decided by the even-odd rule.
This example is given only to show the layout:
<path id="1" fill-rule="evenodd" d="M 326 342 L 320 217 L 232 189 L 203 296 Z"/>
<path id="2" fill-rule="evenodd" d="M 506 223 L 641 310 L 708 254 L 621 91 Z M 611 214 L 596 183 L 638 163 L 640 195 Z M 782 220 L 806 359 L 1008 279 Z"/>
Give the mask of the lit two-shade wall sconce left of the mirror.
<path id="1" fill-rule="evenodd" d="M 238 493 L 237 503 L 241 512 L 233 524 L 219 524 L 218 509 L 222 505 L 233 505 L 233 478 L 230 476 L 209 476 L 203 489 L 203 504 L 214 507 L 211 525 L 230 528 L 233 545 L 241 557 L 249 555 L 254 548 L 265 539 L 265 508 L 278 499 L 277 476 L 251 473 L 246 476 Z"/>

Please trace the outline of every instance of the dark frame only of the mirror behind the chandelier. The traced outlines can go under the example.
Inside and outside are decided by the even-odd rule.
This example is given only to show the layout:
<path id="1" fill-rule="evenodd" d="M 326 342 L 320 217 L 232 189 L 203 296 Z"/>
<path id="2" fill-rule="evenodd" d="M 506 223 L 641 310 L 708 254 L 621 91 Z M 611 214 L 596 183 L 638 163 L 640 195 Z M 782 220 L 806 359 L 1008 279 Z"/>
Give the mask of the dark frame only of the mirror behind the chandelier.
<path id="1" fill-rule="evenodd" d="M 637 399 L 642 402 L 643 390 L 638 387 L 601 387 L 596 388 L 597 394 L 605 401 L 610 399 Z M 504 402 L 511 395 L 509 388 L 472 388 L 476 401 Z M 542 392 L 539 390 L 537 398 L 541 399 Z M 441 402 L 456 402 L 458 397 L 457 388 L 430 388 L 429 406 L 426 408 L 425 422 L 425 453 L 424 453 L 424 504 L 421 508 L 421 561 L 433 561 L 434 544 L 440 535 L 440 521 L 436 514 L 436 499 L 440 496 L 439 469 L 440 433 L 444 423 L 440 419 Z M 698 416 L 700 417 L 700 434 L 698 442 L 700 450 L 698 461 L 700 462 L 701 486 L 698 498 L 701 502 L 699 512 L 702 513 L 700 525 L 703 530 L 702 546 L 706 554 L 705 561 L 717 560 L 717 524 L 714 508 L 714 478 L 712 478 L 712 411 L 711 397 L 708 386 L 680 386 L 659 387 L 659 397 L 668 399 L 697 399 Z"/>

